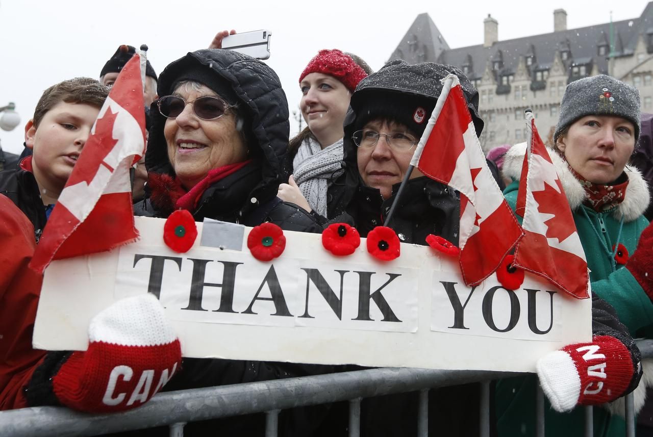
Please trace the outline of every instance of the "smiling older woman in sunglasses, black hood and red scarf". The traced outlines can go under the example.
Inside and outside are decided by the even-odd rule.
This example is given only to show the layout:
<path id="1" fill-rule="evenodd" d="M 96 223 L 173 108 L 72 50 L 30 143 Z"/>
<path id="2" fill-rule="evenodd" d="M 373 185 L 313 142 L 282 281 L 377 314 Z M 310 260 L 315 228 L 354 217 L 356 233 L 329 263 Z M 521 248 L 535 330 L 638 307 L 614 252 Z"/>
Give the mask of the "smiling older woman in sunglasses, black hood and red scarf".
<path id="1" fill-rule="evenodd" d="M 157 92 L 145 157 L 150 196 L 137 215 L 182 208 L 198 221 L 321 230 L 276 198 L 289 122 L 274 71 L 240 53 L 199 50 L 168 65 Z"/>

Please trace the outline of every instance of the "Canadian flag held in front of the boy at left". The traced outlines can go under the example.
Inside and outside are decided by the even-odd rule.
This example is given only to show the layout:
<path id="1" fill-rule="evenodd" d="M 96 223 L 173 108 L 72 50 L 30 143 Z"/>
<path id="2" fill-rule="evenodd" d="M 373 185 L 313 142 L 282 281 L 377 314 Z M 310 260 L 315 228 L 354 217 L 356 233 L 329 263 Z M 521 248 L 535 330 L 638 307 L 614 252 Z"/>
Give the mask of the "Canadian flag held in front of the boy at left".
<path id="1" fill-rule="evenodd" d="M 129 168 L 145 149 L 140 56 L 123 67 L 59 195 L 29 264 L 103 252 L 134 241 Z"/>

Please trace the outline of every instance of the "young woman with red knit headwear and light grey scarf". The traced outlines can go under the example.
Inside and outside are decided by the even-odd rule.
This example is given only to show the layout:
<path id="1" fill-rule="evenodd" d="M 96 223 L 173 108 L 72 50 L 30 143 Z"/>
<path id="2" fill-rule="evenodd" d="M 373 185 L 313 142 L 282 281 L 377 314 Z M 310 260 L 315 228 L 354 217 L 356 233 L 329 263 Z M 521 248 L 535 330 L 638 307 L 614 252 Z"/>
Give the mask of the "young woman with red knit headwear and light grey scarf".
<path id="1" fill-rule="evenodd" d="M 300 109 L 308 125 L 290 141 L 289 184 L 278 197 L 327 217 L 327 189 L 342 169 L 342 124 L 349 98 L 372 69 L 357 55 L 320 50 L 299 77 Z"/>

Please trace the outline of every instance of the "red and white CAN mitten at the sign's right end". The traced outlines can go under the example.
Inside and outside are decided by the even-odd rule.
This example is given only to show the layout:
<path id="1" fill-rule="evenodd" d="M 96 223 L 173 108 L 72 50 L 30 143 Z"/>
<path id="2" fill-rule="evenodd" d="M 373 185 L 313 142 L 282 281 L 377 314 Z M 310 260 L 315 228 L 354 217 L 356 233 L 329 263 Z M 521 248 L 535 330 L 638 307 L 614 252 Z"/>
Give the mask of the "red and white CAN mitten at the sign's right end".
<path id="1" fill-rule="evenodd" d="M 633 377 L 633 361 L 622 342 L 601 335 L 539 359 L 537 376 L 554 410 L 565 412 L 623 395 Z"/>

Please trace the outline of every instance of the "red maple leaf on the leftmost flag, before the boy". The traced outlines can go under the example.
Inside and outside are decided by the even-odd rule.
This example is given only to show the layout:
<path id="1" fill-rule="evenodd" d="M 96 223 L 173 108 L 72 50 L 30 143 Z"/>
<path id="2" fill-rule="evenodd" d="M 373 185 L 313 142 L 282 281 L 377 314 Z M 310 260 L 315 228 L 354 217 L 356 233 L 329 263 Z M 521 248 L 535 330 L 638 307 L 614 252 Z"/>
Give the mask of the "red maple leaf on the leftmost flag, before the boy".
<path id="1" fill-rule="evenodd" d="M 77 172 L 73 172 L 68 179 L 66 186 L 75 185 L 80 182 L 86 182 L 90 185 L 91 181 L 97 174 L 100 166 L 103 165 L 110 172 L 114 172 L 114 168 L 104 162 L 104 159 L 114 149 L 118 140 L 113 138 L 114 123 L 118 113 L 111 112 L 111 107 L 106 108 L 106 112 L 101 119 L 95 122 L 95 133 L 89 136 L 85 148 L 90 149 L 86 153 L 82 153 L 75 163 L 79 167 Z M 89 153 L 89 152 L 93 153 Z"/>

